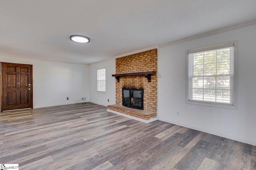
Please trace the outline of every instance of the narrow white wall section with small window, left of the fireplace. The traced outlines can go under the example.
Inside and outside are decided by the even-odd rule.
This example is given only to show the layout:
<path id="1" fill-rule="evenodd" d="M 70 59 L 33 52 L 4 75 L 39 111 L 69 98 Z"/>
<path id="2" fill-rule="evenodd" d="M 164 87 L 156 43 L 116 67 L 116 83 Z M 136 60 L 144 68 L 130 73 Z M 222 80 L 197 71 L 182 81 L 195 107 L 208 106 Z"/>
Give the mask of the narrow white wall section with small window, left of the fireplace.
<path id="1" fill-rule="evenodd" d="M 97 68 L 106 67 L 106 93 L 97 92 Z M 116 60 L 108 60 L 90 64 L 90 102 L 108 106 L 116 104 L 116 79 L 112 74 L 116 73 Z M 109 102 L 108 102 L 109 99 Z"/>

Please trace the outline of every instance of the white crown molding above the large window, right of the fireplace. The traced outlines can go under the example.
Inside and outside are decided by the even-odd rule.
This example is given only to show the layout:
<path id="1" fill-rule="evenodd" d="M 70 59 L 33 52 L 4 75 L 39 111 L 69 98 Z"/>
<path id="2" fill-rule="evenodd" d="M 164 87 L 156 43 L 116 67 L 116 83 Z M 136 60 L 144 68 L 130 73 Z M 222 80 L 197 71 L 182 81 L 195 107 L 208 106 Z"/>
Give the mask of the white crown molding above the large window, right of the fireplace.
<path id="1" fill-rule="evenodd" d="M 252 21 L 248 21 L 248 22 L 244 22 L 244 23 L 239 23 L 239 24 L 232 25 L 232 26 L 229 26 L 229 27 L 216 29 L 214 31 L 194 35 L 192 37 L 179 39 L 177 41 L 172 41 L 171 43 L 168 43 L 168 44 L 165 44 L 165 45 L 160 45 L 160 46 L 158 46 L 158 48 L 167 47 L 167 46 L 175 45 L 175 44 L 180 44 L 180 43 L 184 43 L 184 42 L 187 42 L 187 41 L 200 39 L 200 38 L 208 37 L 208 36 L 211 36 L 211 35 L 216 35 L 216 34 L 219 34 L 219 33 L 224 33 L 224 32 L 227 32 L 227 31 L 232 31 L 234 29 L 240 29 L 240 28 L 243 28 L 243 27 L 248 27 L 248 26 L 251 26 L 251 25 L 256 25 L 256 20 L 252 20 Z"/>

